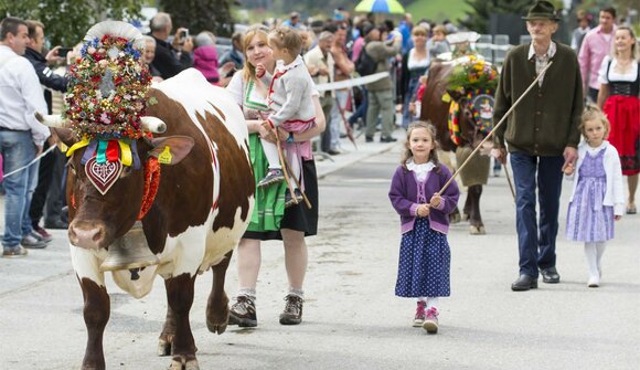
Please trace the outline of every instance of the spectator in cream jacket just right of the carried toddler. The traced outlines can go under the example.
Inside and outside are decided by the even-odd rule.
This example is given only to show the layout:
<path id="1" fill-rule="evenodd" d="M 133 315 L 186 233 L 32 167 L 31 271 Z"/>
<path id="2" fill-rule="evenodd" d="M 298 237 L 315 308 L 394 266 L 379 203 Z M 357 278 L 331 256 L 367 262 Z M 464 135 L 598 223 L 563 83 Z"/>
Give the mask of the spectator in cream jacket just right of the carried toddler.
<path id="1" fill-rule="evenodd" d="M 331 54 L 333 40 L 333 33 L 322 31 L 320 36 L 318 36 L 318 45 L 305 55 L 305 63 L 307 63 L 309 74 L 311 74 L 311 77 L 317 85 L 333 82 L 335 78 L 335 62 Z M 332 89 L 320 93 L 320 106 L 322 107 L 324 117 L 331 117 L 334 98 L 335 94 Z M 329 125 L 331 125 L 331 123 Z M 324 152 L 331 150 L 331 133 L 329 129 L 326 129 L 322 134 L 320 150 Z"/>

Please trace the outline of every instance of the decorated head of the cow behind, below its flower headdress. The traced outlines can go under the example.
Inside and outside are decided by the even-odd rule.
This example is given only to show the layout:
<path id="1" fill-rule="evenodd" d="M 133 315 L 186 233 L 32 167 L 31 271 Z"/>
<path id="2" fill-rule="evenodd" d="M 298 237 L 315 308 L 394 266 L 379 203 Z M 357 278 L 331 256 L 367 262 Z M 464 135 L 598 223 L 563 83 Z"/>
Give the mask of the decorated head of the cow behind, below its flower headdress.
<path id="1" fill-rule="evenodd" d="M 449 89 L 447 93 L 456 104 L 449 112 L 449 125 L 454 126 L 451 135 L 457 136 L 460 141 L 469 142 L 473 148 L 478 147 L 493 128 L 493 94 L 473 89 Z M 454 137 L 452 140 L 456 141 Z M 488 151 L 492 142 L 487 140 L 482 146 L 482 151 Z"/>

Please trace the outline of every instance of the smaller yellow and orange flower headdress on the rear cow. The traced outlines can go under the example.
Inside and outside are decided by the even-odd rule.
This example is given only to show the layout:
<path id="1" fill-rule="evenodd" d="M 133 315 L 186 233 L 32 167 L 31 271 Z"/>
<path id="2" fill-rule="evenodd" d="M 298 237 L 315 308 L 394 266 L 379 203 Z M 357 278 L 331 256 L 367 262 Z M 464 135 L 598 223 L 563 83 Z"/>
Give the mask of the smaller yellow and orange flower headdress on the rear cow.
<path id="1" fill-rule="evenodd" d="M 450 91 L 465 92 L 470 89 L 495 91 L 498 86 L 498 70 L 489 62 L 478 59 L 474 55 L 458 64 L 451 71 L 447 88 Z"/>

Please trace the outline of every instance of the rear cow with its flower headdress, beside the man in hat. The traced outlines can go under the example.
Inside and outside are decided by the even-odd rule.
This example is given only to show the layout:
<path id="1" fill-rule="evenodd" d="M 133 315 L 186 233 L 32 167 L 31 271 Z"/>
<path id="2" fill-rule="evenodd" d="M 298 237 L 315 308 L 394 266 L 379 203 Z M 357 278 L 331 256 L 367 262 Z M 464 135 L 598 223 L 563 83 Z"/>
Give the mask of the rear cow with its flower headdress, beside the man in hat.
<path id="1" fill-rule="evenodd" d="M 470 47 L 477 35 L 460 32 L 447 36 L 456 49 L 452 55 L 431 63 L 422 101 L 420 119 L 436 126 L 440 149 L 455 152 L 458 165 L 469 158 L 492 129 L 498 71 Z M 489 154 L 490 144 L 486 146 L 482 151 Z M 471 234 L 486 233 L 480 195 L 489 178 L 489 156 L 474 156 L 460 171 L 462 184 L 468 188 L 462 213 L 469 219 Z M 450 218 L 452 222 L 460 220 L 458 209 Z"/>

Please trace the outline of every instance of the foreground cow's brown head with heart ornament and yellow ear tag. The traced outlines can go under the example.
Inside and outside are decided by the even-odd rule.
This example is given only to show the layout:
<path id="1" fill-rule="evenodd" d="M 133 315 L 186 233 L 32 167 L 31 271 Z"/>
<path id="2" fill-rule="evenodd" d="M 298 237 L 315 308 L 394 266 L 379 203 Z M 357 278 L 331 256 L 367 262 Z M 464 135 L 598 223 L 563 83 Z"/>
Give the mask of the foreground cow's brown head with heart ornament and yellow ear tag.
<path id="1" fill-rule="evenodd" d="M 163 125 L 158 118 L 142 117 L 142 127 L 147 130 L 159 131 Z M 158 160 L 163 165 L 175 165 L 194 145 L 193 138 L 185 136 L 146 136 L 129 141 L 129 149 L 126 145 L 122 148 L 118 140 L 111 140 L 108 147 L 119 150 L 120 159 L 99 165 L 95 142 L 78 141 L 70 128 L 56 127 L 53 130 L 71 148 L 66 191 L 72 220 L 68 239 L 73 245 L 96 250 L 107 247 L 115 239 L 125 235 L 138 220 L 142 202 L 149 202 L 149 191 L 145 193 L 149 189 L 146 182 L 156 181 L 150 173 L 153 166 L 149 163 Z M 137 158 L 130 161 L 124 158 L 129 155 Z"/>

